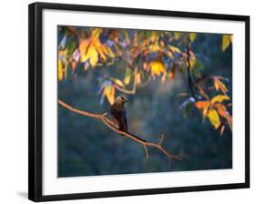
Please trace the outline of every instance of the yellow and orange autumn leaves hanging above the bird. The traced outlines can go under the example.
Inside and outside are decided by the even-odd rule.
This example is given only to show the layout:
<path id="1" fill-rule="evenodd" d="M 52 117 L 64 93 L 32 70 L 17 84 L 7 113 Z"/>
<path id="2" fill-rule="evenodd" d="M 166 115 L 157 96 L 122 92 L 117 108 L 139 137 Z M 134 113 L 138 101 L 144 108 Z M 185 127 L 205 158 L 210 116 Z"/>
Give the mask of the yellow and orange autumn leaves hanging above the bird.
<path id="1" fill-rule="evenodd" d="M 110 68 L 123 62 L 123 76 L 101 76 L 98 80 L 100 101 L 107 98 L 112 104 L 117 91 L 136 94 L 137 87 L 160 78 L 175 81 L 176 73 L 188 72 L 190 93 L 181 104 L 187 114 L 192 107 L 199 109 L 203 120 L 208 119 L 213 128 L 223 133 L 226 126 L 232 129 L 231 103 L 222 76 L 202 75 L 203 64 L 190 46 L 197 41 L 196 33 L 147 31 L 107 28 L 58 27 L 62 38 L 58 45 L 58 81 L 76 78 L 78 69 L 87 71 L 100 66 Z M 221 52 L 232 43 L 232 35 L 222 35 Z M 207 87 L 211 84 L 212 87 Z M 210 91 L 209 91 L 210 89 Z M 214 97 L 209 97 L 209 93 Z"/>

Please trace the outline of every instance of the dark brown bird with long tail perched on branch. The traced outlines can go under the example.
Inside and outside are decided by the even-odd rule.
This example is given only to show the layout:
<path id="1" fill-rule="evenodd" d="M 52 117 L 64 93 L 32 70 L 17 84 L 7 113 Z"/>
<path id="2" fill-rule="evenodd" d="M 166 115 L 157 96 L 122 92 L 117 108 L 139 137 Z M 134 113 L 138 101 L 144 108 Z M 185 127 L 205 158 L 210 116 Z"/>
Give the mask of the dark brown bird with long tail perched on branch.
<path id="1" fill-rule="evenodd" d="M 118 122 L 118 127 L 120 131 L 128 132 L 128 120 L 126 114 L 125 103 L 128 102 L 124 97 L 117 97 L 114 101 L 114 104 L 110 107 L 111 116 Z M 137 136 L 129 133 L 134 138 L 138 138 Z M 142 138 L 138 138 L 139 140 L 146 142 Z"/>

